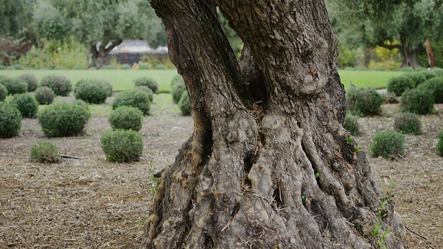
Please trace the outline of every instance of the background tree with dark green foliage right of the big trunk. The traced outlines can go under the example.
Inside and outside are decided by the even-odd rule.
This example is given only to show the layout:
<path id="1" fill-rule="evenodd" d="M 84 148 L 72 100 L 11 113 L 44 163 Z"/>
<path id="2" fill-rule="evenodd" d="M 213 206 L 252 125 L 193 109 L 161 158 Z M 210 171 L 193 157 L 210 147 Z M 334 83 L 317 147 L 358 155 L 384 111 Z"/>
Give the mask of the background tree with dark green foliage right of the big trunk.
<path id="1" fill-rule="evenodd" d="M 426 37 L 435 42 L 441 39 L 440 1 L 330 0 L 329 6 L 339 21 L 361 34 L 361 44 L 399 49 L 402 66 L 421 66 L 418 57 L 426 55 Z"/>

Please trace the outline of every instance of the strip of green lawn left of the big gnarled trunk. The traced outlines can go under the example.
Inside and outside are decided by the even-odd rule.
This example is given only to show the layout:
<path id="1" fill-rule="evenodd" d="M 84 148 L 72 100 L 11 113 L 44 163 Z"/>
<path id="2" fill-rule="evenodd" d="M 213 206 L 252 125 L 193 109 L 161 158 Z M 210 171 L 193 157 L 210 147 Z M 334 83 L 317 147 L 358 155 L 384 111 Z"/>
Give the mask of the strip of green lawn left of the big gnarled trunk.
<path id="1" fill-rule="evenodd" d="M 107 80 L 114 87 L 114 91 L 134 88 L 134 80 L 148 76 L 159 82 L 159 91 L 170 91 L 171 80 L 177 75 L 177 70 L 1 70 L 0 75 L 17 77 L 23 73 L 32 73 L 39 80 L 46 75 L 65 75 L 72 84 L 83 78 Z"/>

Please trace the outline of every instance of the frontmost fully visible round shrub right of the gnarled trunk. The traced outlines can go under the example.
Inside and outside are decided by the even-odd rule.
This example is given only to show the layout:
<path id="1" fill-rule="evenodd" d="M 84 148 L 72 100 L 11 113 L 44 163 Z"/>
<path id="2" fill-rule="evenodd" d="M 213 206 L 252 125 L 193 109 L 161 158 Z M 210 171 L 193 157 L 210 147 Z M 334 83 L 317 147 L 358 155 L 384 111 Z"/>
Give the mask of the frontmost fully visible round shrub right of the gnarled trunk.
<path id="1" fill-rule="evenodd" d="M 377 131 L 368 149 L 370 156 L 395 158 L 404 154 L 404 135 L 397 131 Z"/>

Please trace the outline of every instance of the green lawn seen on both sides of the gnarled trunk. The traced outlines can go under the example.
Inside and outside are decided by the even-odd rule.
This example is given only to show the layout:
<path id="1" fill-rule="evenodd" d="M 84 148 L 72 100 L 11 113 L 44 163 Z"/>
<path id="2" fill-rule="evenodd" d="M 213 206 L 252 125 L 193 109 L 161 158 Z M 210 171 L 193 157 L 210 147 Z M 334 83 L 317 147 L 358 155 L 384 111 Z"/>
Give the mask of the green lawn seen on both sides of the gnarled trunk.
<path id="1" fill-rule="evenodd" d="M 39 80 L 50 74 L 65 75 L 75 84 L 82 78 L 99 78 L 107 80 L 114 86 L 115 91 L 132 89 L 134 79 L 143 76 L 153 77 L 159 82 L 160 91 L 170 91 L 172 77 L 177 74 L 175 69 L 171 70 L 1 70 L 0 75 L 18 76 L 23 73 L 33 73 Z M 338 71 L 341 82 L 345 89 L 350 82 L 358 87 L 372 87 L 374 89 L 386 88 L 390 77 L 401 75 L 402 72 L 386 71 Z"/>

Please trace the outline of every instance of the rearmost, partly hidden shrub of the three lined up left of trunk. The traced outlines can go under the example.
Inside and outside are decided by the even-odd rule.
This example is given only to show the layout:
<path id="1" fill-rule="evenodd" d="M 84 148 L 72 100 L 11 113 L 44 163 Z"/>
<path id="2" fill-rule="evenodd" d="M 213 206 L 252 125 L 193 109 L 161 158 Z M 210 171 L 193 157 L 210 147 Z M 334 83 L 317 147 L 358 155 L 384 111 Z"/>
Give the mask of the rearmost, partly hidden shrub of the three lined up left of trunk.
<path id="1" fill-rule="evenodd" d="M 144 115 L 150 114 L 151 101 L 150 96 L 144 91 L 128 90 L 118 93 L 114 102 L 112 102 L 112 109 L 115 110 L 121 106 L 136 107 L 143 112 Z"/>

